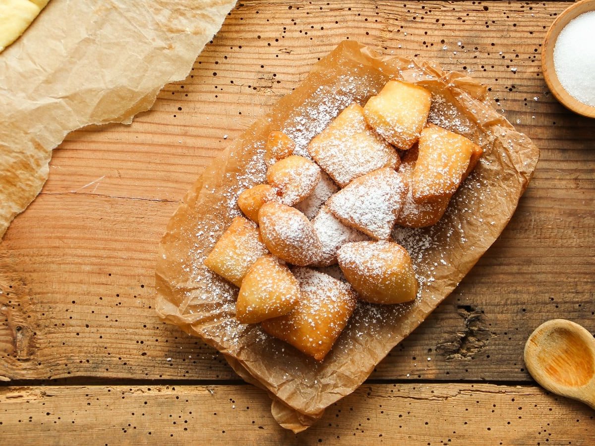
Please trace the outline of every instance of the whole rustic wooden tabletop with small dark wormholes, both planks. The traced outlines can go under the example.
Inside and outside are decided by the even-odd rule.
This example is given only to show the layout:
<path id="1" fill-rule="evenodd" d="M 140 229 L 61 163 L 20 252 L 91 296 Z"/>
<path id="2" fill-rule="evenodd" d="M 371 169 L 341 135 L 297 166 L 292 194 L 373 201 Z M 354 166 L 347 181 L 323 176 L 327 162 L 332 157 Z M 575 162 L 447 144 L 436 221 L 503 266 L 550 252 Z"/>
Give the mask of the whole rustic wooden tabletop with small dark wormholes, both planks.
<path id="1" fill-rule="evenodd" d="M 0 244 L 0 442 L 593 444 L 593 411 L 551 395 L 522 351 L 541 322 L 595 331 L 595 121 L 540 69 L 567 2 L 245 2 L 131 125 L 89 127 Z M 343 39 L 491 85 L 541 148 L 515 216 L 456 291 L 306 432 L 198 338 L 159 321 L 159 238 L 205 165 Z"/>

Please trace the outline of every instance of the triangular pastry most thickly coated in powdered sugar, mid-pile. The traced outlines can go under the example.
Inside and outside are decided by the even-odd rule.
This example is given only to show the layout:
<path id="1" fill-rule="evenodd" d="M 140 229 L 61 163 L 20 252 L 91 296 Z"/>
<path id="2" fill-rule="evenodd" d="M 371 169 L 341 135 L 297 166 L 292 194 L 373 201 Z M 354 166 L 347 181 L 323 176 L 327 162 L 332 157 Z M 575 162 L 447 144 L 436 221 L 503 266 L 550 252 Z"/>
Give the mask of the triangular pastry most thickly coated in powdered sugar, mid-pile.
<path id="1" fill-rule="evenodd" d="M 343 224 L 387 240 L 404 198 L 400 175 L 386 167 L 356 178 L 330 197 L 327 206 Z"/>

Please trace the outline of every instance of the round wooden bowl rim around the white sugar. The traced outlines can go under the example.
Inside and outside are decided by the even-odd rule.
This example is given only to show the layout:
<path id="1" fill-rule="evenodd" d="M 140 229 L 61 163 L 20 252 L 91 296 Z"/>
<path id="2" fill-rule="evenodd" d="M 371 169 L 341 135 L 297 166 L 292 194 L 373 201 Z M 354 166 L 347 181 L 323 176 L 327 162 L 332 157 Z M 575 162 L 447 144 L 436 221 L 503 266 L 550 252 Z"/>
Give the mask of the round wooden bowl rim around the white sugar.
<path id="1" fill-rule="evenodd" d="M 595 106 L 587 105 L 580 100 L 573 98 L 563 89 L 562 84 L 558 80 L 556 70 L 554 69 L 554 46 L 556 46 L 556 39 L 563 27 L 569 21 L 583 14 L 584 12 L 595 11 L 595 0 L 581 0 L 566 8 L 556 18 L 550 29 L 547 30 L 546 38 L 543 41 L 543 48 L 541 49 L 541 70 L 543 77 L 546 79 L 546 84 L 559 102 L 575 113 L 586 116 L 588 118 L 595 118 Z"/>

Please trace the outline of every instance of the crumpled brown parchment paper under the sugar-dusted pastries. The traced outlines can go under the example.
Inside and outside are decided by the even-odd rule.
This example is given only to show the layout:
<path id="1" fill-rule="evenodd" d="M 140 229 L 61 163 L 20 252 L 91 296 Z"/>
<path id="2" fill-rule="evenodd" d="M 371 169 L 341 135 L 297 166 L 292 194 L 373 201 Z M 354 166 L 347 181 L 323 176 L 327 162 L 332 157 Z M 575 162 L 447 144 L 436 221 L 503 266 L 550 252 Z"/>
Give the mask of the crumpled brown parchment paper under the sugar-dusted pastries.
<path id="1" fill-rule="evenodd" d="M 333 350 L 318 363 L 259 325 L 237 322 L 237 288 L 211 274 L 202 260 L 239 215 L 237 194 L 264 182 L 262 147 L 271 130 L 286 131 L 296 140 L 296 152 L 303 153 L 331 118 L 353 100 L 363 105 L 390 78 L 430 89 L 430 121 L 464 134 L 485 153 L 438 224 L 393 231 L 414 260 L 421 296 L 403 305 L 358 303 Z M 243 379 L 269 392 L 281 426 L 302 431 L 361 385 L 459 284 L 508 223 L 538 155 L 537 147 L 491 108 L 478 81 L 444 73 L 437 64 L 378 56 L 356 42 L 343 42 L 224 150 L 186 194 L 159 248 L 157 312 L 220 350 Z"/>

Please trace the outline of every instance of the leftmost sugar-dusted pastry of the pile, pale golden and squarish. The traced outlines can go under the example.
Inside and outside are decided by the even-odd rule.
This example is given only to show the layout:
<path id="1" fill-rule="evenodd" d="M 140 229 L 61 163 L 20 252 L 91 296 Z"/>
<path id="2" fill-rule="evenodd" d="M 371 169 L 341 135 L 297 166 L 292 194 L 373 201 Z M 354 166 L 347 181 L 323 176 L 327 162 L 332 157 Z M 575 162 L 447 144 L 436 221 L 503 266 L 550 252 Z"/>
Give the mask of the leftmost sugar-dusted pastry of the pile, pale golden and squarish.
<path id="1" fill-rule="evenodd" d="M 266 253 L 258 227 L 236 217 L 206 257 L 205 266 L 239 287 L 250 266 Z"/>

